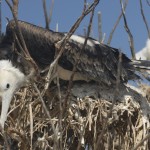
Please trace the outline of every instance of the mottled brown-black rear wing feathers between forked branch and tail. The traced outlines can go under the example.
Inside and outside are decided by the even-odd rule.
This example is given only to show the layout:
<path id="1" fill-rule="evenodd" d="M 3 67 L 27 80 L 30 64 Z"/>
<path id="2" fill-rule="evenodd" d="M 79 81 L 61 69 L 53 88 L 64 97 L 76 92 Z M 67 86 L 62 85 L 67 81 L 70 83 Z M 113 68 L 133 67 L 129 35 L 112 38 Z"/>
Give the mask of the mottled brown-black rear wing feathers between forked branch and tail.
<path id="1" fill-rule="evenodd" d="M 80 38 L 83 37 L 79 36 Z M 77 39 L 77 36 L 75 39 Z M 83 49 L 83 41 L 84 39 L 81 43 L 70 39 L 65 46 L 63 56 L 72 64 L 79 61 L 77 71 L 84 74 L 87 78 L 107 84 L 114 83 L 117 78 L 117 66 L 119 63 L 118 49 L 100 44 L 91 38 Z M 133 65 L 131 65 L 131 60 L 125 54 L 122 54 L 121 81 L 127 82 L 130 79 L 136 78 L 138 76 L 135 74 Z"/>

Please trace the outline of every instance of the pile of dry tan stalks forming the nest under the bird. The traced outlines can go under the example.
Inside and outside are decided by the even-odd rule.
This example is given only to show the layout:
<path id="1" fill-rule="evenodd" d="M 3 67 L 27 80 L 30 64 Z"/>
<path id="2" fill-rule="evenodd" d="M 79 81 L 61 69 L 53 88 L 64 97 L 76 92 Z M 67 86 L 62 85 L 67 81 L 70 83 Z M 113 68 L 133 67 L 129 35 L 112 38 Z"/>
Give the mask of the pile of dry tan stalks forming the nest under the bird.
<path id="1" fill-rule="evenodd" d="M 22 88 L 11 103 L 8 143 L 1 135 L 1 149 L 133 149 L 149 133 L 149 102 L 130 88 L 120 86 L 114 97 L 115 87 L 75 83 L 67 103 L 67 86 L 57 89 L 50 87 L 43 97 L 56 135 L 35 88 Z M 139 148 L 150 149 L 149 140 Z"/>

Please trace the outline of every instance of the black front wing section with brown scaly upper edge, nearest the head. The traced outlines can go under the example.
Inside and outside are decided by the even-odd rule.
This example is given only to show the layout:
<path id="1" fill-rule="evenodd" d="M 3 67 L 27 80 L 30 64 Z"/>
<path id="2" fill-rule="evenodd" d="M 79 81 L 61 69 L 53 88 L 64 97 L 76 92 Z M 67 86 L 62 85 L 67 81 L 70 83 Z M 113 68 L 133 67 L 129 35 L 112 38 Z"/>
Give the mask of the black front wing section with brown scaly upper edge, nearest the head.
<path id="1" fill-rule="evenodd" d="M 64 37 L 64 34 L 47 30 L 24 21 L 18 21 L 18 25 L 31 57 L 41 68 L 48 66 L 54 60 L 54 44 L 60 41 L 62 37 Z M 18 35 L 14 20 L 10 21 L 7 25 L 4 42 L 6 42 L 6 40 L 7 42 L 12 42 L 13 32 Z"/>

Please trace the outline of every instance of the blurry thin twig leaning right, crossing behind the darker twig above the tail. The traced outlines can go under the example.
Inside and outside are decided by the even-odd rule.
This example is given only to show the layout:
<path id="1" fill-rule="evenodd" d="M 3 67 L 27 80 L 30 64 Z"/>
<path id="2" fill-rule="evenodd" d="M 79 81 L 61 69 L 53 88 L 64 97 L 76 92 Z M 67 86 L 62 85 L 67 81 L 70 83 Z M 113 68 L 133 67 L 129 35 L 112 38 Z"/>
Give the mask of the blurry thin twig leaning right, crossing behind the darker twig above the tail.
<path id="1" fill-rule="evenodd" d="M 127 4 L 128 4 L 128 0 L 125 1 L 124 10 L 126 9 Z M 119 24 L 119 22 L 120 22 L 120 20 L 121 20 L 122 15 L 123 15 L 123 12 L 121 11 L 121 14 L 119 15 L 119 17 L 118 17 L 118 19 L 117 19 L 117 21 L 116 21 L 116 23 L 115 23 L 115 25 L 114 25 L 112 31 L 110 32 L 107 45 L 110 45 L 111 40 L 112 40 L 112 37 L 113 37 L 113 34 L 114 34 L 114 32 L 115 32 L 115 30 L 116 30 L 116 28 L 117 28 L 117 26 L 118 26 L 118 24 Z"/>

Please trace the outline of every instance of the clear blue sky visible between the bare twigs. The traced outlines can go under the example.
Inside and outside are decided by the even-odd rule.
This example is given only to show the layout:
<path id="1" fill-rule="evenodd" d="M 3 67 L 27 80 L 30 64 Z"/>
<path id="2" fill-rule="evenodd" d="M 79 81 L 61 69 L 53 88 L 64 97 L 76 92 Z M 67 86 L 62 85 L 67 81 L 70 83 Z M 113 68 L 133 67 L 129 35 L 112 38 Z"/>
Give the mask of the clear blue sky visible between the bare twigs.
<path id="1" fill-rule="evenodd" d="M 10 0 L 11 1 L 11 0 Z M 77 18 L 81 15 L 83 9 L 84 0 L 54 0 L 54 9 L 50 28 L 55 30 L 56 24 L 59 25 L 59 31 L 67 32 L 71 26 L 75 23 Z M 150 0 L 148 0 L 150 2 Z M 92 3 L 93 0 L 87 0 Z M 150 6 L 148 6 L 146 0 L 142 0 L 145 17 L 148 25 L 150 26 Z M 47 0 L 47 8 L 50 8 L 51 0 Z M 120 0 L 101 0 L 98 4 L 94 20 L 93 20 L 93 32 L 94 38 L 98 38 L 98 19 L 97 12 L 102 13 L 102 32 L 106 33 L 105 42 L 107 42 L 109 34 L 121 13 Z M 12 19 L 11 12 L 7 6 L 5 0 L 2 0 L 2 31 L 5 32 L 6 17 Z M 88 17 L 81 23 L 76 34 L 82 35 L 83 28 L 88 26 Z M 145 24 L 143 22 L 140 12 L 140 1 L 129 0 L 126 8 L 126 18 L 128 26 L 134 38 L 134 45 L 136 51 L 139 51 L 145 46 L 148 38 Z M 44 13 L 42 7 L 42 0 L 20 0 L 19 3 L 19 19 L 24 20 L 42 27 L 45 27 Z M 119 26 L 117 27 L 111 46 L 120 48 L 127 56 L 131 57 L 130 47 L 128 42 L 128 34 L 124 29 L 124 22 L 121 19 Z"/>

